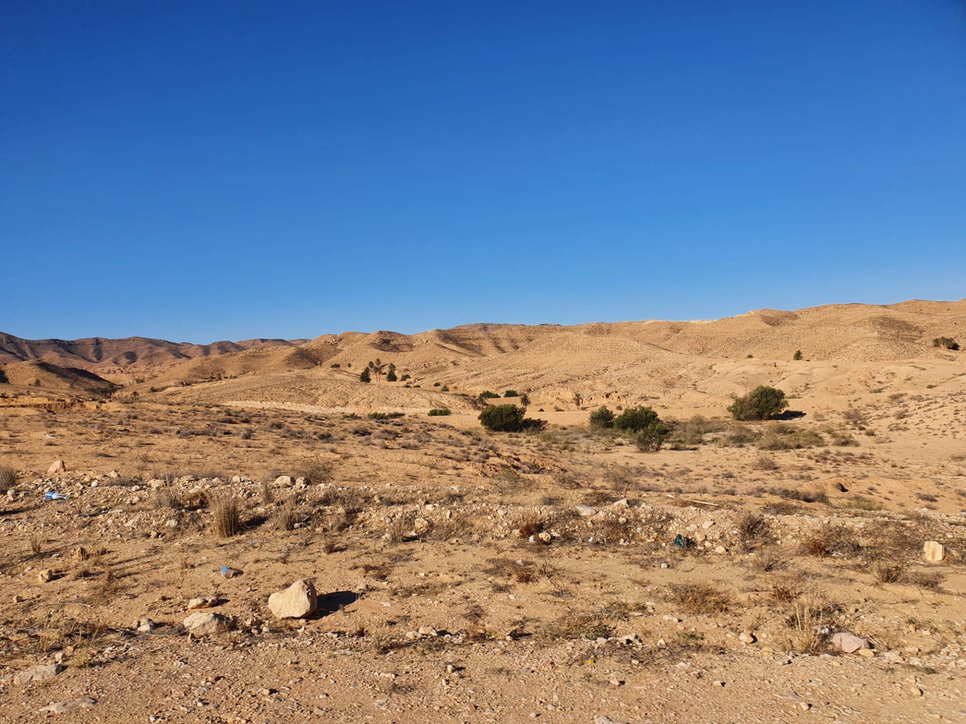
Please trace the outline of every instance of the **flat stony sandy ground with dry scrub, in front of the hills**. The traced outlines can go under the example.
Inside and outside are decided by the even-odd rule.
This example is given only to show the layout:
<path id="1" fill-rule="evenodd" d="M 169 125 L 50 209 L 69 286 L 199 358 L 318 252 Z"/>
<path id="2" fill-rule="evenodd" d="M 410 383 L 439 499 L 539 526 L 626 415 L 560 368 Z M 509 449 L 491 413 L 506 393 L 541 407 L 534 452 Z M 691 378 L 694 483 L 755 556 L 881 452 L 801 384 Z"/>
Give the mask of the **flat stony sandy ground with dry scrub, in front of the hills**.
<path id="1" fill-rule="evenodd" d="M 471 413 L 0 408 L 0 720 L 961 721 L 966 397 L 895 395 L 742 425 L 671 400 L 654 454 L 576 409 L 489 434 Z M 300 578 L 319 611 L 275 619 Z M 231 630 L 190 638 L 197 597 Z"/>

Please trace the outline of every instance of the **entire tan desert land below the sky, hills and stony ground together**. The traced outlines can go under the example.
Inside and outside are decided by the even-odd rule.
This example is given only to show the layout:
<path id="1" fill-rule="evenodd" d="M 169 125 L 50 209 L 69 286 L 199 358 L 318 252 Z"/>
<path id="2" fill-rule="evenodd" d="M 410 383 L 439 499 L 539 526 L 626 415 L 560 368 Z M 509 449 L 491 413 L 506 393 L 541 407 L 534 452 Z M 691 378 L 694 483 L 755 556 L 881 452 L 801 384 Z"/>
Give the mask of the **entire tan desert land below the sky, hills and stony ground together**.
<path id="1" fill-rule="evenodd" d="M 0 719 L 963 721 L 960 343 L 966 299 L 0 334 Z"/>

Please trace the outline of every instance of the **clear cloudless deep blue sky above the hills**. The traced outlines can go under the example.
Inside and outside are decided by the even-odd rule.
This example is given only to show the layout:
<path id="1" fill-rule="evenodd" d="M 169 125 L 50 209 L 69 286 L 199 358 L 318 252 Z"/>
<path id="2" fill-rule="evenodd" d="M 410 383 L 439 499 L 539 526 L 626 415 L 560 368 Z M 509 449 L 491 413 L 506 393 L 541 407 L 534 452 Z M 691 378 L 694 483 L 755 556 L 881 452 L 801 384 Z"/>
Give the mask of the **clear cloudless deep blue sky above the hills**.
<path id="1" fill-rule="evenodd" d="M 0 0 L 0 330 L 966 296 L 959 0 Z"/>

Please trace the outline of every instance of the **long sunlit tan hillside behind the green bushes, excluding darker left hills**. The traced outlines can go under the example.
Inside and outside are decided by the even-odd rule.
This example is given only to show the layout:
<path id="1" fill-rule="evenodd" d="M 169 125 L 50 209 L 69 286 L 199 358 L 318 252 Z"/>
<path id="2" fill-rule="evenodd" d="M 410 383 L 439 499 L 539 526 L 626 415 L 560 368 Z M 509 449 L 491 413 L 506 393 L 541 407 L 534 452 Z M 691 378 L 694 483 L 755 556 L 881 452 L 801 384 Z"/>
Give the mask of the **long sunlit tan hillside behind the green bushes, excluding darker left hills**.
<path id="1" fill-rule="evenodd" d="M 548 411 L 573 409 L 575 395 L 580 406 L 661 400 L 717 409 L 732 394 L 762 383 L 789 393 L 831 395 L 867 392 L 900 379 L 955 386 L 962 358 L 934 347 L 940 336 L 966 339 L 966 301 L 762 309 L 713 321 L 345 332 L 298 348 L 193 359 L 129 392 L 153 389 L 162 400 L 315 411 L 414 411 L 441 404 L 462 409 L 469 403 L 457 394 L 515 389 Z M 800 361 L 794 360 L 797 350 Z M 358 372 L 376 357 L 411 378 L 358 382 Z M 454 394 L 440 399 L 442 386 Z M 428 397 L 429 390 L 434 394 Z"/>

